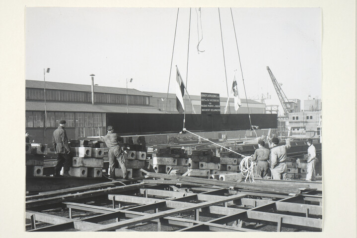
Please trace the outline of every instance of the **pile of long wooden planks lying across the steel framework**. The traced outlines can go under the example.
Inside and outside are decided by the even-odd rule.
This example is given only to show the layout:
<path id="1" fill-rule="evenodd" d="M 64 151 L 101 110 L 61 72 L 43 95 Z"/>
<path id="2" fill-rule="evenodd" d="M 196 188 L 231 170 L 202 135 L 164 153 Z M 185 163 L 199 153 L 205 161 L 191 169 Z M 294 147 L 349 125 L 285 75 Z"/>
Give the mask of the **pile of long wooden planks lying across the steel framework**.
<path id="1" fill-rule="evenodd" d="M 279 194 L 300 194 L 301 190 L 310 189 L 309 185 L 301 184 L 258 184 L 258 183 L 249 183 L 249 182 L 234 182 L 234 181 L 221 181 L 215 179 L 204 179 L 204 178 L 193 178 L 185 176 L 176 176 L 176 175 L 166 175 L 159 173 L 150 173 L 142 170 L 146 174 L 147 178 L 155 179 L 168 179 L 171 180 L 174 184 L 184 182 L 190 182 L 194 184 L 207 184 L 214 185 L 224 188 L 234 188 L 235 190 L 249 190 L 249 191 L 259 191 L 259 192 L 268 192 L 268 193 L 279 193 Z M 148 180 L 145 180 L 146 182 Z M 156 180 L 153 180 L 155 183 Z"/>

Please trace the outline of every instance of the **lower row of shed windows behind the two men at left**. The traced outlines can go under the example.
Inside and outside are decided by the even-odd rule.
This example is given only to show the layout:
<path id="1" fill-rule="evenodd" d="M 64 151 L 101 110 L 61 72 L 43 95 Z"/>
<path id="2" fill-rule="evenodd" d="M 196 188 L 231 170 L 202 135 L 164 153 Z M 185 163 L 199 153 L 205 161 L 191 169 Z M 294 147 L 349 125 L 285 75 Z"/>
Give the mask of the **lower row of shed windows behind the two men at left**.
<path id="1" fill-rule="evenodd" d="M 44 127 L 44 112 L 26 111 L 26 127 Z M 47 112 L 46 127 L 58 127 L 66 120 L 67 127 L 102 127 L 105 114 L 102 113 L 65 113 Z"/>

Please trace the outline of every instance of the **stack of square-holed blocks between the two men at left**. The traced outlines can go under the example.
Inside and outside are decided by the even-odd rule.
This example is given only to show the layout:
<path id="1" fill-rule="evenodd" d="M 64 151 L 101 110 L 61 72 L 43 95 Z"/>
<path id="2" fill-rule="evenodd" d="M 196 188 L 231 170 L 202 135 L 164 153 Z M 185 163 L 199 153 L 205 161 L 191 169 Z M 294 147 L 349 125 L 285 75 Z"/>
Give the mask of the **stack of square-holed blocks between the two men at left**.
<path id="1" fill-rule="evenodd" d="M 91 147 L 71 147 L 72 166 L 69 174 L 73 177 L 101 178 L 104 167 L 104 149 Z"/>

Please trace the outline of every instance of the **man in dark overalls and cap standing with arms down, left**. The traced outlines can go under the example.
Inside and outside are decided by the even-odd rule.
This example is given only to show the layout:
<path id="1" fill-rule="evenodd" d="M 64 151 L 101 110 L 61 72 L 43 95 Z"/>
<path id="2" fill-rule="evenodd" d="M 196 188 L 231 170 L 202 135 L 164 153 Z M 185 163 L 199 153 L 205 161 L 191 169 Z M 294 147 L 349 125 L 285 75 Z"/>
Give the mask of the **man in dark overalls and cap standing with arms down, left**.
<path id="1" fill-rule="evenodd" d="M 60 121 L 60 126 L 53 132 L 52 144 L 57 156 L 57 165 L 55 166 L 55 177 L 61 177 L 60 172 L 64 170 L 64 177 L 71 177 L 69 174 L 72 164 L 71 149 L 65 130 L 66 120 Z"/>

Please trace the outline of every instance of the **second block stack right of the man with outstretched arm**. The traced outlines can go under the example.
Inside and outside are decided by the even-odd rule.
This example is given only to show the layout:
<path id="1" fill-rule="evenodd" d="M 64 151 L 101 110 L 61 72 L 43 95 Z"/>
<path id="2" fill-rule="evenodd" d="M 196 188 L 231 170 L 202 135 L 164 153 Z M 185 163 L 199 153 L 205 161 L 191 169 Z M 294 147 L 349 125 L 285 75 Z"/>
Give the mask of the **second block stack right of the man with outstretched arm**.
<path id="1" fill-rule="evenodd" d="M 168 173 L 170 169 L 177 174 L 187 172 L 189 159 L 184 149 L 160 148 L 152 154 L 152 167 L 156 173 Z M 179 172 L 178 172 L 179 171 Z"/>

